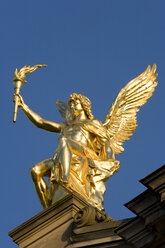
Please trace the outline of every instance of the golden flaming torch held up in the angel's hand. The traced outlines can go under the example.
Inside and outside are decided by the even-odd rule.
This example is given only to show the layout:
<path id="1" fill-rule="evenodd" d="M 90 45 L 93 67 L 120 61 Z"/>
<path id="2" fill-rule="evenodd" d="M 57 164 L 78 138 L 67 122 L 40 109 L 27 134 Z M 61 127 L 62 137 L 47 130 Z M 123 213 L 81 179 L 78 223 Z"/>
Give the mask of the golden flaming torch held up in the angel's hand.
<path id="1" fill-rule="evenodd" d="M 24 66 L 23 68 L 21 68 L 19 71 L 15 70 L 14 75 L 13 75 L 13 84 L 14 84 L 14 89 L 15 89 L 15 94 L 16 94 L 16 98 L 15 98 L 15 105 L 14 105 L 14 117 L 13 117 L 13 122 L 16 122 L 17 120 L 17 111 L 18 111 L 18 101 L 19 101 L 19 97 L 18 94 L 21 91 L 21 87 L 22 85 L 24 85 L 25 83 L 27 83 L 27 81 L 25 80 L 25 77 L 28 73 L 31 73 L 33 71 L 35 71 L 37 68 L 41 68 L 47 65 L 35 65 L 33 67 L 30 66 Z"/>

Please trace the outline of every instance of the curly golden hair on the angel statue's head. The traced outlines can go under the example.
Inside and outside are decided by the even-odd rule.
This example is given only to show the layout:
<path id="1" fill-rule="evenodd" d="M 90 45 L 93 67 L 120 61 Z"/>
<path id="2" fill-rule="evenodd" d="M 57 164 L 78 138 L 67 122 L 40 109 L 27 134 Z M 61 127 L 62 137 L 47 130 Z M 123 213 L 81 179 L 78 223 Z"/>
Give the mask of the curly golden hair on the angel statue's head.
<path id="1" fill-rule="evenodd" d="M 76 93 L 71 94 L 69 99 L 68 99 L 68 104 L 69 104 L 70 108 L 71 108 L 71 102 L 75 101 L 77 99 L 80 101 L 80 103 L 83 107 L 83 110 L 85 111 L 85 114 L 87 115 L 87 118 L 89 120 L 92 120 L 94 118 L 92 111 L 91 111 L 91 105 L 92 104 L 91 104 L 91 101 L 89 100 L 88 97 L 83 96 L 81 94 L 76 94 Z"/>

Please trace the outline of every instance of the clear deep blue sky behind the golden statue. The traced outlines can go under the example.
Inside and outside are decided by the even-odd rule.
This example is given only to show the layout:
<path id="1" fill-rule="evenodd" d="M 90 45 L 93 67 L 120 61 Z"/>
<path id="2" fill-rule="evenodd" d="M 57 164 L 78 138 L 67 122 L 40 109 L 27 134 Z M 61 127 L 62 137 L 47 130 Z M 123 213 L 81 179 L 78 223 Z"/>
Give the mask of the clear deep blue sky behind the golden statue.
<path id="1" fill-rule="evenodd" d="M 22 96 L 45 119 L 62 121 L 56 100 L 88 96 L 104 121 L 118 92 L 149 64 L 158 86 L 138 113 L 138 127 L 116 158 L 120 171 L 106 184 L 106 212 L 133 216 L 123 204 L 145 190 L 138 180 L 164 164 L 165 2 L 157 0 L 3 1 L 1 65 L 1 247 L 17 247 L 7 233 L 42 209 L 29 168 L 52 157 L 57 134 L 37 129 L 19 110 L 12 122 L 17 67 L 47 64 L 27 77 Z"/>

